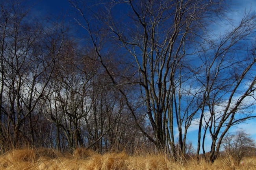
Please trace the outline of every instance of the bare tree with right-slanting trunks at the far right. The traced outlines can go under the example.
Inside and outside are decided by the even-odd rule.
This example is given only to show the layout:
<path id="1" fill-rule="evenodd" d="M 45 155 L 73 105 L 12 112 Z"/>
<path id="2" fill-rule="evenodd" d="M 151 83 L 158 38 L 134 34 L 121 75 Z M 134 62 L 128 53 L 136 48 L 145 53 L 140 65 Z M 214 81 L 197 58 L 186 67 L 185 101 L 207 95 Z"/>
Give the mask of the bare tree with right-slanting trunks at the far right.
<path id="1" fill-rule="evenodd" d="M 255 105 L 256 74 L 255 44 L 250 37 L 255 32 L 256 16 L 245 13 L 238 26 L 232 27 L 221 37 L 205 38 L 198 53 L 202 67 L 195 79 L 201 87 L 203 105 L 199 119 L 197 154 L 200 150 L 201 128 L 204 126 L 202 149 L 206 132 L 212 144 L 210 160 L 214 162 L 222 139 L 231 126 L 248 119 Z M 211 35 L 212 37 L 213 35 Z"/>

